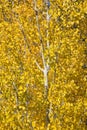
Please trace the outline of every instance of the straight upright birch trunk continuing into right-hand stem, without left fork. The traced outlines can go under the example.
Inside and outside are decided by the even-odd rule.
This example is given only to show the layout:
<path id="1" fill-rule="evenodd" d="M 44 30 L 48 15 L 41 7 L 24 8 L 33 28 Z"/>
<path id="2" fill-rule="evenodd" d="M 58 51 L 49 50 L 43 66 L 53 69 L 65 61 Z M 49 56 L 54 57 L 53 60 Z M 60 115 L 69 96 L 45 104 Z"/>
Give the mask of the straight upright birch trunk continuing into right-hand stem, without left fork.
<path id="1" fill-rule="evenodd" d="M 45 0 L 45 5 L 46 5 L 46 21 L 47 21 L 47 31 L 46 31 L 46 38 L 47 38 L 47 49 L 48 49 L 48 55 L 47 55 L 47 64 L 46 64 L 46 68 L 45 68 L 45 75 L 44 78 L 46 78 L 45 80 L 45 85 L 46 85 L 46 98 L 47 101 L 48 100 L 48 72 L 49 72 L 49 49 L 50 49 L 50 43 L 49 43 L 49 21 L 50 21 L 50 16 L 49 16 L 49 0 Z M 51 113 L 51 105 L 52 103 L 49 102 L 49 105 L 46 109 L 46 126 L 48 127 L 48 124 L 50 123 L 50 113 Z"/>

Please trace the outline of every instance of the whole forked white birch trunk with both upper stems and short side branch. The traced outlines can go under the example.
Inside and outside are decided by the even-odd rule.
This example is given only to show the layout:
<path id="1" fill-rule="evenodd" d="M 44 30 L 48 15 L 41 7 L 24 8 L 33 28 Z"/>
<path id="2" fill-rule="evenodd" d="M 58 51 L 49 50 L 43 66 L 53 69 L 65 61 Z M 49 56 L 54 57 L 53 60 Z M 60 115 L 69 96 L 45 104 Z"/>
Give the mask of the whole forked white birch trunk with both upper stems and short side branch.
<path id="1" fill-rule="evenodd" d="M 36 22 L 37 22 L 37 29 L 38 29 L 38 33 L 39 33 L 39 38 L 40 38 L 40 43 L 41 43 L 41 54 L 42 54 L 42 61 L 43 61 L 43 69 L 40 67 L 40 65 L 36 62 L 37 67 L 39 68 L 39 70 L 41 70 L 43 72 L 44 75 L 44 87 L 45 87 L 45 100 L 48 101 L 48 72 L 49 72 L 49 6 L 47 5 L 47 2 L 49 1 L 45 1 L 45 5 L 46 5 L 46 21 L 47 21 L 47 31 L 46 31 L 46 38 L 47 38 L 47 43 L 46 43 L 46 48 L 48 49 L 48 56 L 47 56 L 47 60 L 46 57 L 44 56 L 44 47 L 43 47 L 43 39 L 41 36 L 41 32 L 40 32 L 40 25 L 39 25 L 39 19 L 38 19 L 38 9 L 37 9 L 37 3 L 36 0 L 34 0 L 34 10 L 36 12 Z M 49 4 L 49 3 L 48 3 Z M 50 105 L 50 104 L 49 104 Z M 51 105 L 50 105 L 51 106 Z M 50 106 L 47 107 L 46 109 L 46 127 L 48 127 L 48 124 L 50 123 L 50 119 L 49 119 L 49 112 L 51 111 Z"/>

